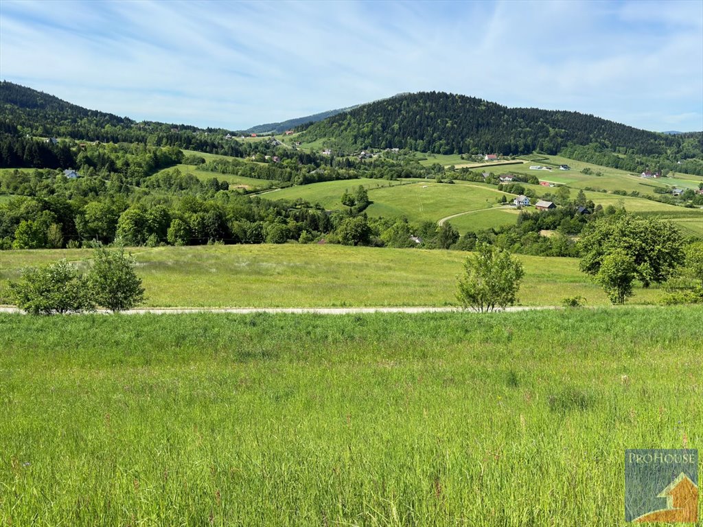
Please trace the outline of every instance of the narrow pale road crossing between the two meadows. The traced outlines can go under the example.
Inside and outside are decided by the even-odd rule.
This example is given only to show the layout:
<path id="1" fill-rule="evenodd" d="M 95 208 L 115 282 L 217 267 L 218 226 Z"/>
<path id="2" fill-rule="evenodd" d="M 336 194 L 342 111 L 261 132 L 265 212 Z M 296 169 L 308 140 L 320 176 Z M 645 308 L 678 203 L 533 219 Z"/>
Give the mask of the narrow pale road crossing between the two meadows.
<path id="1" fill-rule="evenodd" d="M 557 306 L 510 306 L 503 310 L 505 312 L 515 311 L 534 311 L 539 309 L 559 309 Z M 353 315 L 359 313 L 453 313 L 462 311 L 458 307 L 418 307 L 418 306 L 399 306 L 399 307 L 370 307 L 370 308 L 140 308 L 129 309 L 122 311 L 123 315 L 145 315 L 147 313 L 155 315 L 167 314 L 187 314 L 187 313 L 233 313 L 236 315 L 249 315 L 252 313 L 291 313 L 296 315 L 316 314 L 316 315 Z M 18 308 L 3 306 L 0 307 L 0 313 L 17 313 L 21 314 Z M 110 314 L 110 311 L 98 309 L 96 313 Z M 474 311 L 467 310 L 467 313 Z"/>

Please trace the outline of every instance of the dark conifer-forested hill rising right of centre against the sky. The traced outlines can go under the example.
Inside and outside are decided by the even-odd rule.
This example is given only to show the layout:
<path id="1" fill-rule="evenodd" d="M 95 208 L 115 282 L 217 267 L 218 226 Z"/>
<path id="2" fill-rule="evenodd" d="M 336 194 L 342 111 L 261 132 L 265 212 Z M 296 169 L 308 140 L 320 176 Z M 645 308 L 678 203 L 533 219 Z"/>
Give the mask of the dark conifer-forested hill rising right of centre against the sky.
<path id="1" fill-rule="evenodd" d="M 361 105 L 307 126 L 305 140 L 333 138 L 344 148 L 408 148 L 437 154 L 555 154 L 567 145 L 590 145 L 619 154 L 645 156 L 680 152 L 692 139 L 700 154 L 701 134 L 669 136 L 579 112 L 507 108 L 452 93 L 404 94 Z M 698 143 L 696 145 L 696 143 Z"/>

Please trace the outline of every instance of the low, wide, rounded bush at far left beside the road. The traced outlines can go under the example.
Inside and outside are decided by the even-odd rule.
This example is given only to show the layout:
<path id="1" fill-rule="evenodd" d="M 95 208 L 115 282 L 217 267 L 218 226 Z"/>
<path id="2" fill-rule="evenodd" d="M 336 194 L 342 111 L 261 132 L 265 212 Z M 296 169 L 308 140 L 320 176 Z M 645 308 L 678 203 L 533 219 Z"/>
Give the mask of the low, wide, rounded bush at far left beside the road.
<path id="1" fill-rule="evenodd" d="M 32 315 L 79 313 L 95 308 L 86 281 L 65 260 L 27 268 L 8 285 L 11 301 Z"/>

